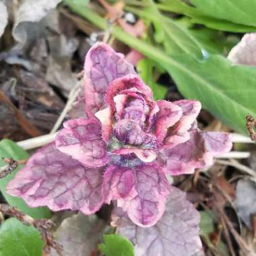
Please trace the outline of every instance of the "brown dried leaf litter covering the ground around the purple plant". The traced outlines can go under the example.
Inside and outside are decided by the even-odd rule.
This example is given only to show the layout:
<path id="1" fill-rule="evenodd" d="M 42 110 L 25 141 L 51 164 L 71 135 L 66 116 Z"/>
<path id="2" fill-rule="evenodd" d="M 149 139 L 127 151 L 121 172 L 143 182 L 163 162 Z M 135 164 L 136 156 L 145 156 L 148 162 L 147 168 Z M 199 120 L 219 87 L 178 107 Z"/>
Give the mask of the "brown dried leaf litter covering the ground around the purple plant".
<path id="1" fill-rule="evenodd" d="M 83 58 L 90 48 L 86 39 L 90 39 L 93 32 L 99 33 L 96 26 L 82 20 L 68 9 L 55 9 L 61 1 L 51 1 L 51 4 L 47 4 L 49 1 L 40 1 L 37 12 L 31 12 L 30 9 L 35 1 L 24 2 L 24 5 L 15 6 L 12 14 L 9 12 L 9 20 L 16 17 L 15 21 L 11 20 L 13 28 L 6 26 L 7 9 L 4 2 L 0 2 L 0 12 L 6 13 L 0 17 L 0 36 L 3 34 L 0 41 L 0 135 L 1 139 L 9 138 L 14 141 L 22 141 L 51 131 L 67 103 L 69 92 L 79 80 L 77 73 L 83 69 Z M 105 1 L 100 2 L 102 4 Z M 93 9 L 98 9 L 98 13 L 104 13 L 97 1 L 91 1 L 90 5 Z M 107 10 L 106 18 L 117 21 L 123 30 L 128 33 L 131 31 L 130 34 L 135 36 L 150 34 L 147 25 L 134 26 L 125 21 L 122 16 L 124 6 L 124 3 L 104 5 Z M 119 12 L 115 8 L 119 8 Z M 141 20 L 137 21 L 137 24 L 138 22 Z M 254 33 L 245 34 L 241 42 L 230 51 L 228 59 L 234 65 L 256 65 L 253 59 L 253 53 L 256 51 L 254 37 Z M 99 35 L 97 39 L 104 38 Z M 152 38 L 148 37 L 146 40 Z M 129 53 L 133 53 L 134 49 L 117 41 L 111 36 L 108 38 L 108 42 L 118 46 L 119 51 L 130 57 Z M 143 55 L 132 57 L 131 62 L 135 65 L 137 59 L 141 58 Z M 168 88 L 166 98 L 183 98 L 172 77 L 164 72 L 158 75 L 156 67 L 154 72 L 153 78 L 158 77 L 157 82 Z M 77 109 L 83 111 L 82 104 L 79 104 L 83 98 L 84 94 L 80 91 L 79 97 L 71 102 L 71 108 L 63 121 L 74 118 Z M 241 118 L 246 123 L 245 117 Z M 218 131 L 221 127 L 222 130 L 231 131 L 224 125 L 216 125 L 216 122 L 219 122 L 218 119 L 207 111 L 199 115 L 201 129 L 214 127 Z M 238 143 L 234 144 L 234 148 L 249 152 L 254 149 L 253 146 Z M 255 171 L 255 164 L 249 160 L 238 161 L 239 164 Z M 194 177 L 175 177 L 173 183 L 188 193 L 187 197 L 201 213 L 210 212 L 205 228 L 201 229 L 203 250 L 195 254 L 196 256 L 255 255 L 255 177 L 248 177 L 246 172 L 238 170 L 235 165 L 217 161 L 207 170 L 197 171 Z M 55 239 L 67 252 L 65 255 L 77 253 L 77 243 L 81 244 L 81 255 L 100 255 L 97 247 L 102 243 L 102 234 L 106 232 L 107 222 L 98 216 L 91 217 L 74 214 L 65 218 L 61 226 L 55 228 Z M 79 231 L 76 232 L 75 229 Z M 136 248 L 134 241 L 133 245 Z"/>

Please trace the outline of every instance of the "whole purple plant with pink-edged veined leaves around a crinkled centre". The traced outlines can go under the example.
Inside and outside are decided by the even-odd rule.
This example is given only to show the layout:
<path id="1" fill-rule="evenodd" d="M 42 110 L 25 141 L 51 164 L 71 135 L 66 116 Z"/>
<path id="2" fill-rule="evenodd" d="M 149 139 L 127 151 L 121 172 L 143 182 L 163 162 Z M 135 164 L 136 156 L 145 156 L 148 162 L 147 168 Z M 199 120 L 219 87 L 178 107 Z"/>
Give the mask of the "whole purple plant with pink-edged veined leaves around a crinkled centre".
<path id="1" fill-rule="evenodd" d="M 179 191 L 167 174 L 210 166 L 232 146 L 228 134 L 197 128 L 197 100 L 154 101 L 132 65 L 106 44 L 88 52 L 84 80 L 88 119 L 66 121 L 7 187 L 31 207 L 93 214 L 115 200 L 129 221 L 150 227 L 169 193 Z"/>

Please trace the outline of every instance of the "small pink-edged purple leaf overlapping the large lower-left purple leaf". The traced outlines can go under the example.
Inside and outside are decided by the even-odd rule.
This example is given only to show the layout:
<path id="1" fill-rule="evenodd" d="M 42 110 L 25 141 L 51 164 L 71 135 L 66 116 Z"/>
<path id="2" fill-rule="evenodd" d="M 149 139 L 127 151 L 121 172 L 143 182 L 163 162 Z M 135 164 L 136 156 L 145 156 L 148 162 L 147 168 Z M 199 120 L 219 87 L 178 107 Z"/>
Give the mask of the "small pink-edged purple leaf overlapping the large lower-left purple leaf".
<path id="1" fill-rule="evenodd" d="M 102 140 L 101 125 L 95 119 L 71 119 L 57 133 L 56 146 L 88 167 L 106 164 L 106 142 Z"/>

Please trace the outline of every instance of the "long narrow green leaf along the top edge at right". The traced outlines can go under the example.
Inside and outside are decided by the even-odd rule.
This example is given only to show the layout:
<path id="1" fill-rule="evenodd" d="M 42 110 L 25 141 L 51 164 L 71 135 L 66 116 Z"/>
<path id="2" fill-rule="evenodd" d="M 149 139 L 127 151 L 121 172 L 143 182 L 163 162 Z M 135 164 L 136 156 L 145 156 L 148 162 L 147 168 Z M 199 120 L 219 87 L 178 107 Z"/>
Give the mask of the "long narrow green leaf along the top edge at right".
<path id="1" fill-rule="evenodd" d="M 197 0 L 196 0 L 197 1 Z M 198 0 L 202 4 L 205 5 L 216 5 L 216 1 L 205 1 L 205 0 Z M 224 0 L 224 4 L 226 4 L 230 0 Z M 231 1 L 240 1 L 240 0 L 231 0 Z M 247 1 L 253 1 L 253 0 L 247 0 Z M 218 0 L 218 2 L 222 2 L 222 0 Z M 240 1 L 242 4 L 243 1 Z M 219 5 L 220 6 L 220 5 Z M 223 4 L 222 4 L 223 6 Z M 247 5 L 247 7 L 250 5 Z M 208 9 L 207 11 L 211 13 L 211 15 L 207 15 L 207 12 L 202 12 L 205 8 L 201 8 L 202 11 L 200 11 L 199 8 L 191 7 L 190 5 L 187 5 L 182 0 L 163 0 L 160 4 L 158 4 L 158 8 L 164 11 L 171 11 L 174 13 L 181 13 L 184 15 L 188 15 L 192 18 L 192 21 L 195 24 L 204 24 L 208 28 L 214 28 L 216 30 L 222 30 L 222 31 L 230 31 L 230 32 L 255 32 L 255 26 L 250 26 L 246 22 L 242 23 L 240 22 L 240 14 L 236 13 L 236 17 L 234 16 L 235 22 L 232 22 L 231 20 L 227 20 L 226 17 L 223 19 L 220 19 L 214 15 L 215 9 Z M 217 7 L 218 8 L 218 7 Z M 227 13 L 226 9 L 223 9 L 225 13 Z M 229 8 L 228 8 L 229 12 Z M 239 12 L 239 11 L 238 11 Z M 220 17 L 220 16 L 219 16 Z M 238 22 L 239 20 L 239 22 Z M 250 18 L 251 20 L 251 18 Z"/>

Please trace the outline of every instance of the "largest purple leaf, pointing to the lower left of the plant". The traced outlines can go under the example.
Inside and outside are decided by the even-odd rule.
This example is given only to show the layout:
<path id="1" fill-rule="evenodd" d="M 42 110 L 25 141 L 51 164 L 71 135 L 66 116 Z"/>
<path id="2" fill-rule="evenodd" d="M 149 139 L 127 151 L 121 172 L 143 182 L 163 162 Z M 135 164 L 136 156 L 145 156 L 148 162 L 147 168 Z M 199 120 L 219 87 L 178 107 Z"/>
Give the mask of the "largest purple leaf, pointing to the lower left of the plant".
<path id="1" fill-rule="evenodd" d="M 86 168 L 50 143 L 38 150 L 7 186 L 30 207 L 96 212 L 103 203 L 102 168 Z"/>

